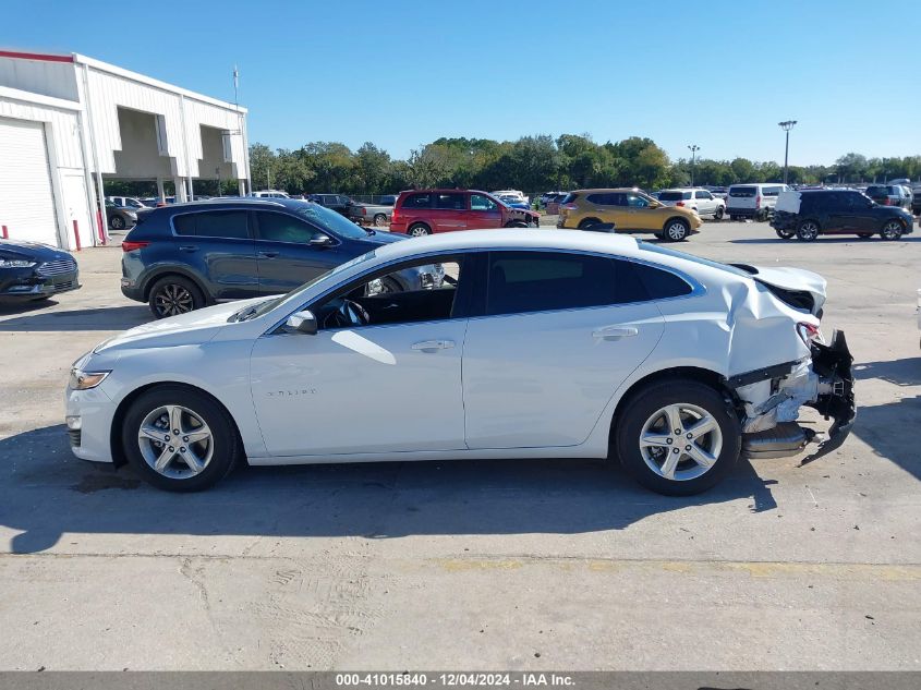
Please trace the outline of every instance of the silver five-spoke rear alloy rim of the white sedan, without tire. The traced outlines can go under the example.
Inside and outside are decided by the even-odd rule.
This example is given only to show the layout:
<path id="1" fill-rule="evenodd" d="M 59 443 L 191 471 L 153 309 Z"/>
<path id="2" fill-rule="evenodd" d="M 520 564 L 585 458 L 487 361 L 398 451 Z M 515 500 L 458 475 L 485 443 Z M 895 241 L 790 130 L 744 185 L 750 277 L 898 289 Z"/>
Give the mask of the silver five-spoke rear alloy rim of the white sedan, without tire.
<path id="1" fill-rule="evenodd" d="M 659 476 L 684 482 L 705 474 L 723 451 L 723 432 L 703 408 L 681 402 L 654 412 L 643 424 L 640 452 Z"/>

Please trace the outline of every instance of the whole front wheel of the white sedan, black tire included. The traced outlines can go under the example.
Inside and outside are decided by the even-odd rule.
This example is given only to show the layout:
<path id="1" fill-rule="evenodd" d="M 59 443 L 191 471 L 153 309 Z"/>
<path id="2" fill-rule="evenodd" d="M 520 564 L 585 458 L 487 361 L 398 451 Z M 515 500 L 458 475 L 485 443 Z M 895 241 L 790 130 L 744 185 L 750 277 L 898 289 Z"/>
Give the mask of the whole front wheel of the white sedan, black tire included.
<path id="1" fill-rule="evenodd" d="M 159 432 L 162 439 L 155 439 Z M 124 416 L 121 441 L 131 465 L 168 492 L 208 488 L 243 458 L 240 435 L 227 410 L 187 386 L 161 385 L 143 392 Z"/>

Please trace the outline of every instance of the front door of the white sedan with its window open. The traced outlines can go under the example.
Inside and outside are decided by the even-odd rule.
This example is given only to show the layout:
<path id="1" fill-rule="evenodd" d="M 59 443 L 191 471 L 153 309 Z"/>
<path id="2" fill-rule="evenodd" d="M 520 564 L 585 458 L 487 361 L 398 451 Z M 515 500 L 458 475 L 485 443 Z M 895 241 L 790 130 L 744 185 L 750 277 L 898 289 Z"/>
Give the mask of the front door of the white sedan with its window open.
<path id="1" fill-rule="evenodd" d="M 447 259 L 425 257 L 400 267 L 433 262 Z M 367 294 L 367 283 L 389 269 L 304 305 L 317 317 L 315 335 L 279 328 L 258 338 L 251 389 L 269 453 L 331 458 L 463 449 L 464 263 L 456 259 L 455 270 L 448 269 L 455 281 L 440 288 L 365 298 L 364 307 L 379 323 L 342 326 L 334 307 L 342 295 Z M 372 306 L 375 300 L 380 303 Z M 398 315 L 388 316 L 393 310 Z"/>

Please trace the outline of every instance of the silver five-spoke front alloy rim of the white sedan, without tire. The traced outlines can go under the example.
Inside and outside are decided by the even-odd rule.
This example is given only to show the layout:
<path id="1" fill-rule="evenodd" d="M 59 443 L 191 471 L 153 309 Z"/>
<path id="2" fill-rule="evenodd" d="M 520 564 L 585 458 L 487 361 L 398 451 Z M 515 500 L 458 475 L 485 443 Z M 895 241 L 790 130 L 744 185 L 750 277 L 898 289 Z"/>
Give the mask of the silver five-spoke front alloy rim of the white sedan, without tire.
<path id="1" fill-rule="evenodd" d="M 156 408 L 137 429 L 144 461 L 158 474 L 184 480 L 201 474 L 215 450 L 211 429 L 193 410 L 179 404 Z"/>

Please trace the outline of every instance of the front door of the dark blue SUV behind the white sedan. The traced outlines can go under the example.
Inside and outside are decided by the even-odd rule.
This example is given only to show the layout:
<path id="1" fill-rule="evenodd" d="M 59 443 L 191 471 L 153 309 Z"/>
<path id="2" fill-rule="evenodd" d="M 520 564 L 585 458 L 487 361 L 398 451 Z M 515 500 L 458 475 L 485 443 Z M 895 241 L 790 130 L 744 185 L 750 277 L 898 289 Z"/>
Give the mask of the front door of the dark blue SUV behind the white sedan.
<path id="1" fill-rule="evenodd" d="M 259 294 L 289 292 L 352 258 L 338 238 L 289 214 L 257 210 L 253 219 Z"/>

